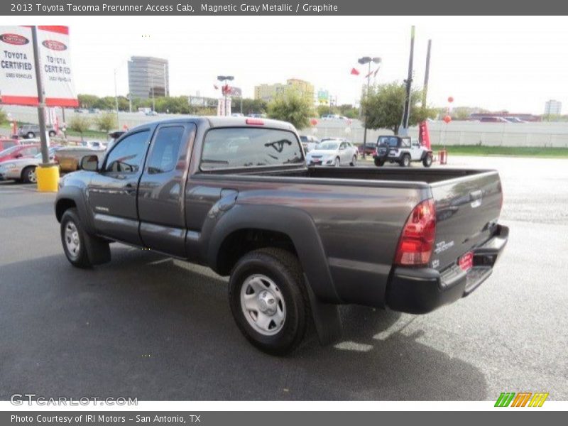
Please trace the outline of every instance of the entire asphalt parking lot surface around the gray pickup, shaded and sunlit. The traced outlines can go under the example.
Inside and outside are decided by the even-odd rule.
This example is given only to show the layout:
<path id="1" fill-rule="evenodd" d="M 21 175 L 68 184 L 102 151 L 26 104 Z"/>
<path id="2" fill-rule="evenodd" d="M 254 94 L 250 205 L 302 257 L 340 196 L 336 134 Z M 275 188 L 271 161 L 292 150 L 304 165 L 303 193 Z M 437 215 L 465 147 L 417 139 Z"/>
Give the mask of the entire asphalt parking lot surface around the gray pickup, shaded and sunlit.
<path id="1" fill-rule="evenodd" d="M 111 263 L 72 268 L 55 195 L 1 182 L 0 400 L 496 400 L 503 391 L 567 400 L 568 160 L 450 165 L 500 170 L 510 240 L 491 278 L 428 315 L 342 307 L 339 344 L 312 335 L 285 358 L 241 336 L 225 278 L 120 244 Z"/>

